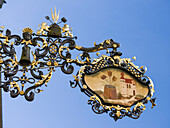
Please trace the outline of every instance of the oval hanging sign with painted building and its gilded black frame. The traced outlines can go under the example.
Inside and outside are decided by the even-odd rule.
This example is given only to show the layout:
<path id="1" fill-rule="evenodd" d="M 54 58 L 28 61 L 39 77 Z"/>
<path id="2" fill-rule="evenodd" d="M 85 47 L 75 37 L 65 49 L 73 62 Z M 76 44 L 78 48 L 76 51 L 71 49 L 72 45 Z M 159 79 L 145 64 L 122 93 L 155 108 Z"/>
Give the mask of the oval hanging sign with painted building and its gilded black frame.
<path id="1" fill-rule="evenodd" d="M 120 45 L 113 42 L 112 46 Z M 89 49 L 96 51 L 94 48 Z M 152 103 L 152 108 L 156 105 L 156 98 L 152 98 L 154 84 L 149 77 L 144 76 L 147 68 L 136 66 L 133 63 L 136 57 L 120 58 L 121 55 L 115 50 L 110 56 L 102 55 L 92 61 L 89 54 L 84 52 L 81 57 L 84 60 L 86 58 L 88 63 L 77 58 L 76 62 L 82 67 L 74 76 L 74 82 L 70 81 L 71 87 L 78 85 L 90 97 L 88 104 L 95 113 L 109 113 L 115 121 L 125 116 L 139 118 L 148 101 Z M 73 62 L 72 59 L 67 61 Z"/>

